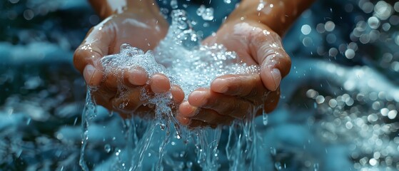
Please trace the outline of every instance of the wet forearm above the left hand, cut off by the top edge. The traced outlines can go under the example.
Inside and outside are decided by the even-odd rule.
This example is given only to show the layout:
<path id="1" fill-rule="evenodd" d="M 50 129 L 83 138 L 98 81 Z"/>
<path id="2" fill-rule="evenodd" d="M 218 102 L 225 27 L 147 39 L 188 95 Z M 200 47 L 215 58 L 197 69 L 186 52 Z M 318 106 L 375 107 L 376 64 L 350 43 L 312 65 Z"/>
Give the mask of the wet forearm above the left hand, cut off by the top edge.
<path id="1" fill-rule="evenodd" d="M 151 12 L 159 12 L 155 0 L 89 0 L 89 3 L 101 19 L 126 10 L 151 10 Z"/>

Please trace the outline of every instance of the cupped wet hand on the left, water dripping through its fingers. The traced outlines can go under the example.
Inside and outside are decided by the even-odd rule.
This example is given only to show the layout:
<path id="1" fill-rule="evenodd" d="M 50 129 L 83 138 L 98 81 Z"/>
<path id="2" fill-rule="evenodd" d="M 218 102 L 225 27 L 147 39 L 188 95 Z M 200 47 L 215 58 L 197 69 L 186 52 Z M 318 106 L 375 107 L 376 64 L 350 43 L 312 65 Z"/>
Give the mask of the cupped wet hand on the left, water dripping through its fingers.
<path id="1" fill-rule="evenodd" d="M 183 90 L 178 86 L 171 86 L 168 78 L 161 73 L 147 76 L 143 68 L 130 68 L 123 71 L 123 81 L 118 82 L 116 76 L 104 76 L 99 62 L 103 56 L 118 53 L 122 43 L 147 51 L 156 47 L 166 35 L 168 23 L 159 13 L 157 6 L 147 8 L 128 9 L 120 14 L 113 14 L 100 24 L 91 28 L 81 46 L 74 54 L 74 66 L 84 75 L 88 86 L 96 87 L 92 97 L 97 104 L 108 110 L 114 110 L 123 116 L 133 111 L 148 111 L 141 101 L 141 88 L 150 93 L 162 93 L 171 90 L 174 100 L 180 103 Z M 128 94 L 118 95 L 118 84 L 127 86 Z M 126 101 L 127 97 L 127 101 Z M 126 104 L 127 103 L 127 104 Z"/>

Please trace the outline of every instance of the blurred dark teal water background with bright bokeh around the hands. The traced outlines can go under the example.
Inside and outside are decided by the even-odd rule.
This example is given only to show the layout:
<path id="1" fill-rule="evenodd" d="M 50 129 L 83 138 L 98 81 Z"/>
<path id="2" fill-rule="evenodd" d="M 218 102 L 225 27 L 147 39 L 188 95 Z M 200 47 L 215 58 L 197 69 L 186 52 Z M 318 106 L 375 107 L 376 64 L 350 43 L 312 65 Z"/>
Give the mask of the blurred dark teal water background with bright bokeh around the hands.
<path id="1" fill-rule="evenodd" d="M 81 170 L 86 86 L 72 57 L 99 21 L 84 0 L 0 2 L 0 170 Z M 257 128 L 265 170 L 399 170 L 399 2 L 317 1 L 284 44 L 293 68 Z M 91 169 L 125 145 L 121 123 L 99 109 Z"/>

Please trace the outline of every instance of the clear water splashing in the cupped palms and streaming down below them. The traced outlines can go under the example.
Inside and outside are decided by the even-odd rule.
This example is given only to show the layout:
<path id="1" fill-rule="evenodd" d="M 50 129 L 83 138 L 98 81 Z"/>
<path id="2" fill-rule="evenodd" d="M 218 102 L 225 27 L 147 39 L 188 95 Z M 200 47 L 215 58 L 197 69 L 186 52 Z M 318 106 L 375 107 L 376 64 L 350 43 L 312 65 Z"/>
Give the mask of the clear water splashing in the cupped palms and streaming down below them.
<path id="1" fill-rule="evenodd" d="M 128 68 L 141 67 L 152 76 L 154 73 L 163 73 L 168 76 L 172 85 L 181 86 L 186 98 L 196 88 L 209 87 L 211 81 L 218 76 L 226 74 L 253 74 L 258 73 L 258 66 L 246 66 L 240 61 L 236 53 L 227 51 L 221 45 L 200 45 L 200 38 L 193 31 L 185 11 L 175 10 L 172 13 L 172 25 L 166 38 L 159 43 L 154 51 L 144 52 L 128 44 L 121 46 L 121 53 L 101 58 L 105 77 L 108 75 L 118 78 L 118 98 L 126 99 L 118 108 L 124 108 L 128 103 L 128 87 L 123 85 L 123 71 Z M 177 53 L 176 53 L 177 52 Z M 121 74 L 121 75 L 118 75 Z M 81 148 L 80 165 L 83 170 L 89 170 L 84 160 L 85 147 L 89 143 L 88 125 L 95 115 L 95 105 L 91 101 L 91 91 L 88 90 L 86 107 L 83 113 L 82 129 L 83 140 Z M 143 159 L 151 155 L 158 156 L 158 163 L 153 169 L 163 170 L 163 158 L 168 144 L 181 141 L 186 146 L 194 145 L 196 162 L 203 170 L 218 170 L 218 144 L 221 138 L 222 127 L 188 129 L 176 120 L 178 104 L 171 100 L 171 93 L 155 93 L 148 95 L 143 88 L 141 100 L 146 100 L 144 105 L 155 106 L 155 117 L 148 121 L 143 133 L 138 133 L 136 120 L 126 120 L 126 149 L 115 151 L 116 159 L 112 165 L 113 170 L 147 170 L 143 168 Z M 228 146 L 226 147 L 227 159 L 231 168 L 243 170 L 252 168 L 254 146 L 256 143 L 253 128 L 254 108 L 252 113 L 246 114 L 245 120 L 236 120 L 230 126 Z M 134 113 L 132 113 L 134 115 Z M 265 116 L 264 116 L 265 118 Z M 157 127 L 158 126 L 158 127 Z M 157 129 L 157 128 L 160 128 Z M 138 136 L 142 134 L 142 136 Z M 154 135 L 157 137 L 154 140 Z M 162 135 L 163 134 L 163 135 Z M 154 141 L 161 140 L 160 144 Z M 147 152 L 148 147 L 159 145 L 158 152 Z M 122 157 L 123 156 L 123 157 Z M 130 158 L 126 160 L 126 157 Z M 176 166 L 173 166 L 176 167 Z M 187 165 L 186 167 L 189 167 Z"/>

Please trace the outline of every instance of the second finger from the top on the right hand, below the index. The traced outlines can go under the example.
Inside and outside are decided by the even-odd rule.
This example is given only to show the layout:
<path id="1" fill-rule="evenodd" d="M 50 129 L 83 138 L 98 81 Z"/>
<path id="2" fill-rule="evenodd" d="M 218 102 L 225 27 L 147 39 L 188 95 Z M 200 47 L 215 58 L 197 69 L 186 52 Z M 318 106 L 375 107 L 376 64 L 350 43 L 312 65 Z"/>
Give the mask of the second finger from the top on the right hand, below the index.
<path id="1" fill-rule="evenodd" d="M 188 103 L 195 107 L 216 110 L 221 115 L 243 119 L 246 113 L 252 112 L 253 104 L 242 98 L 214 93 L 206 88 L 198 89 L 188 95 Z"/>

